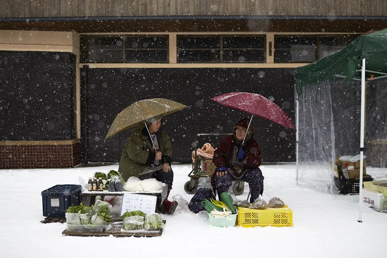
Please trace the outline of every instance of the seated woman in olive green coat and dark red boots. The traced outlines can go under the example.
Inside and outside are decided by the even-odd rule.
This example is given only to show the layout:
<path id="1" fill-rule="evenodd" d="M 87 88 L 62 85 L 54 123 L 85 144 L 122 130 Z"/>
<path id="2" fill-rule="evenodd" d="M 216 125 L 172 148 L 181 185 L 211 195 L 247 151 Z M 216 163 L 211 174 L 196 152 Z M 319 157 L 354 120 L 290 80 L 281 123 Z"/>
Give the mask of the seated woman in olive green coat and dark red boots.
<path id="1" fill-rule="evenodd" d="M 176 201 L 168 200 L 173 183 L 172 149 L 170 138 L 161 128 L 161 118 L 161 115 L 149 118 L 145 120 L 148 129 L 141 122 L 133 131 L 123 147 L 118 171 L 125 180 L 135 176 L 141 180 L 156 178 L 165 183 L 168 186 L 168 195 L 163 203 L 164 210 L 172 214 L 178 205 Z"/>

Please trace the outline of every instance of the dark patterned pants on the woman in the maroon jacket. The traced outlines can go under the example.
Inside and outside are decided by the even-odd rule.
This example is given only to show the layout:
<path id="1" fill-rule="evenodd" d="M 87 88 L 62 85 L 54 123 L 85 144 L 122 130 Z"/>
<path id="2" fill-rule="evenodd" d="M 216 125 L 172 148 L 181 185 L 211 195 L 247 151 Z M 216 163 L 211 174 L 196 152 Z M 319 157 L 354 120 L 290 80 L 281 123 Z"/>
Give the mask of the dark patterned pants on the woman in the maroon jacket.
<path id="1" fill-rule="evenodd" d="M 229 172 L 224 176 L 215 176 L 216 188 L 221 192 L 228 191 L 228 188 L 233 184 L 231 182 L 233 178 L 233 175 Z M 245 180 L 253 190 L 260 191 L 264 187 L 264 176 L 259 168 L 247 169 L 241 179 Z"/>

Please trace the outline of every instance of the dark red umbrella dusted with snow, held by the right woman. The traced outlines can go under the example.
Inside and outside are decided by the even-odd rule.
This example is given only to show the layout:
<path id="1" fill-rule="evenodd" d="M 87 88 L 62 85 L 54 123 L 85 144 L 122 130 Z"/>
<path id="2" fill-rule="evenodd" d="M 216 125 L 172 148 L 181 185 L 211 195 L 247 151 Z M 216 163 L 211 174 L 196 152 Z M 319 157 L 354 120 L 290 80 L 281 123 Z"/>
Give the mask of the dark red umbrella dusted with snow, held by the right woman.
<path id="1" fill-rule="evenodd" d="M 213 97 L 212 100 L 223 106 L 239 109 L 253 116 L 259 116 L 296 130 L 289 116 L 279 106 L 262 95 L 248 92 L 230 92 Z M 250 126 L 250 123 L 248 126 Z"/>

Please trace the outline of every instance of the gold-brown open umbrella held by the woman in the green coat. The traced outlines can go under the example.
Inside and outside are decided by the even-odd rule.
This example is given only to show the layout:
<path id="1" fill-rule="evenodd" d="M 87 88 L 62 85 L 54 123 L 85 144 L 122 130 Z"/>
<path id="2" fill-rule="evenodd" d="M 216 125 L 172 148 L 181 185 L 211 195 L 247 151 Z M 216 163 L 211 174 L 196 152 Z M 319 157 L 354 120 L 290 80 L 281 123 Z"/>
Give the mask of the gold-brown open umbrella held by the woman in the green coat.
<path id="1" fill-rule="evenodd" d="M 120 132 L 133 128 L 141 121 L 161 114 L 166 116 L 180 111 L 187 106 L 170 99 L 144 99 L 133 103 L 121 111 L 109 128 L 106 139 Z"/>

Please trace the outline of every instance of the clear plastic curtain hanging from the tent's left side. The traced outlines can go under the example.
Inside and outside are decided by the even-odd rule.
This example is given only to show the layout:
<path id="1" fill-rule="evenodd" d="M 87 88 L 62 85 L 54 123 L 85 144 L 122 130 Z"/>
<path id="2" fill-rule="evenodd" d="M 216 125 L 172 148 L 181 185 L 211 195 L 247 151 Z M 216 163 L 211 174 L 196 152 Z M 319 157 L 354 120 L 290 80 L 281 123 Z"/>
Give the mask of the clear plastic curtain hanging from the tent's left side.
<path id="1" fill-rule="evenodd" d="M 335 135 L 329 82 L 305 87 L 298 105 L 298 184 L 337 192 L 331 166 Z"/>

